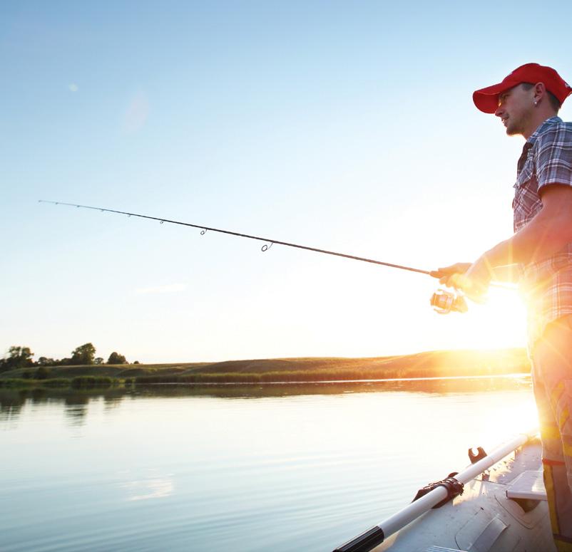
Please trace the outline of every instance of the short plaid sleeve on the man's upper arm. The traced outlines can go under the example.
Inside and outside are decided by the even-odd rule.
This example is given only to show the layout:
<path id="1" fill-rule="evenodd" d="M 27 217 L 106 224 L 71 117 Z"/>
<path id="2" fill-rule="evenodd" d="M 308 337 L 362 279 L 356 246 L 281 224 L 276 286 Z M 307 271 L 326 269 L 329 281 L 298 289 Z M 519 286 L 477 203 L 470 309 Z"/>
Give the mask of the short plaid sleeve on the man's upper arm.
<path id="1" fill-rule="evenodd" d="M 550 184 L 572 186 L 572 128 L 558 125 L 538 136 L 538 190 Z"/>

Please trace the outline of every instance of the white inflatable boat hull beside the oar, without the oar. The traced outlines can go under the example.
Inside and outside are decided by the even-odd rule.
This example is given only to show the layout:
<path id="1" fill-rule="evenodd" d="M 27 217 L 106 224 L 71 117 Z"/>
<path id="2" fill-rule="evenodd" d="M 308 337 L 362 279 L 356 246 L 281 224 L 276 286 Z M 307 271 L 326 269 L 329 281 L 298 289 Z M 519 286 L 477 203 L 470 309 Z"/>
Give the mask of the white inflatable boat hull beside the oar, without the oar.
<path id="1" fill-rule="evenodd" d="M 553 552 L 548 503 L 543 489 L 516 492 L 524 472 L 541 474 L 541 445 L 528 442 L 472 479 L 464 492 L 431 509 L 374 548 L 376 552 Z M 533 476 L 525 474 L 524 478 Z M 523 479 L 523 477 L 521 477 Z M 541 486 L 541 484 L 540 484 Z M 511 491 L 511 489 L 515 489 Z M 508 494 L 517 495 L 509 498 Z"/>

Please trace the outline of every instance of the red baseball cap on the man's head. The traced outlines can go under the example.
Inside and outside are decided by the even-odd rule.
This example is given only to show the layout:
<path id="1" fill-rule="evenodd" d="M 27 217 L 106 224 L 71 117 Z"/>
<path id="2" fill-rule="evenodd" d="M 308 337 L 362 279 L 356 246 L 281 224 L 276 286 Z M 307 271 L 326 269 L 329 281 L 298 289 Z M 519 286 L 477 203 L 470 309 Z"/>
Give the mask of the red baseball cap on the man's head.
<path id="1" fill-rule="evenodd" d="M 572 93 L 570 85 L 553 68 L 538 63 L 525 63 L 506 76 L 501 83 L 475 90 L 473 101 L 484 113 L 494 113 L 499 107 L 499 94 L 521 83 L 544 83 L 546 90 L 553 93 L 560 103 Z"/>

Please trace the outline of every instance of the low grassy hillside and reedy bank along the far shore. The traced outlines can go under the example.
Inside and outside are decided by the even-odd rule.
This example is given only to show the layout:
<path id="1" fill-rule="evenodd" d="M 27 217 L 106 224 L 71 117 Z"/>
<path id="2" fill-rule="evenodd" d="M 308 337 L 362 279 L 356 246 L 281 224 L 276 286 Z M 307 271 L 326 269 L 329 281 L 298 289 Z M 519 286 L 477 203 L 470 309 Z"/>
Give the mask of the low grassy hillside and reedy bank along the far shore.
<path id="1" fill-rule="evenodd" d="M 55 366 L 46 380 L 24 379 L 19 368 L 0 374 L 0 385 L 89 387 L 192 382 L 315 382 L 527 373 L 526 350 L 429 351 L 374 358 L 272 358 L 222 363 Z"/>

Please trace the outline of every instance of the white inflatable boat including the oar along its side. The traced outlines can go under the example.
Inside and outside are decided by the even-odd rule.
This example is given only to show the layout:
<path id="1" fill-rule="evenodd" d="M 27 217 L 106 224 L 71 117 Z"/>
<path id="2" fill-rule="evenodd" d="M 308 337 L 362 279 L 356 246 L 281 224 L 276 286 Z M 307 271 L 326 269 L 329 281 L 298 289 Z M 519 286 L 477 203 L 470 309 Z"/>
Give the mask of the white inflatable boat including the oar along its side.
<path id="1" fill-rule="evenodd" d="M 460 473 L 419 489 L 414 501 L 334 552 L 553 552 L 538 431 L 490 454 L 469 449 Z"/>

